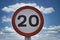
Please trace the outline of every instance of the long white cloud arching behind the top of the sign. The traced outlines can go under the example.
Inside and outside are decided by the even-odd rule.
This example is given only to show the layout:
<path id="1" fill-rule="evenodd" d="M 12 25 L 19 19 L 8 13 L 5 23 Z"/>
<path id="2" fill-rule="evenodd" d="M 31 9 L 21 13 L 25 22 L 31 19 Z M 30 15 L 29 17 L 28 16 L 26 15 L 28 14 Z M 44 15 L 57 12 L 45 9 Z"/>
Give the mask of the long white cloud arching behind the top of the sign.
<path id="1" fill-rule="evenodd" d="M 43 6 L 38 6 L 36 3 L 16 3 L 13 5 L 5 6 L 4 8 L 2 8 L 2 11 L 8 12 L 8 13 L 15 12 L 18 8 L 22 6 L 33 6 L 39 9 L 44 14 L 49 14 L 55 11 L 53 7 L 45 8 Z"/>

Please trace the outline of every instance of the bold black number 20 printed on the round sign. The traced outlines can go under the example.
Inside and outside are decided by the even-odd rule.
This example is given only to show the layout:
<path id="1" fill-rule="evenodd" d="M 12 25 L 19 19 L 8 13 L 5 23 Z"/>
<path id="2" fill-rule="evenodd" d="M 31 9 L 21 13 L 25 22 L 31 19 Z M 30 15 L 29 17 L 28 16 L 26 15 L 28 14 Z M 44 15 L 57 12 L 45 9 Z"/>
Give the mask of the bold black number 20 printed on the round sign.
<path id="1" fill-rule="evenodd" d="M 36 18 L 36 23 L 35 23 L 35 24 L 33 24 L 33 23 L 31 22 L 31 19 L 32 19 L 33 17 Z M 24 24 L 24 23 L 26 22 L 26 20 L 27 20 L 26 16 L 20 15 L 20 16 L 18 16 L 17 19 L 20 20 L 20 18 L 24 18 L 24 20 L 23 20 L 21 23 L 18 24 L 18 27 L 26 27 L 27 25 Z M 29 17 L 29 24 L 30 24 L 32 27 L 37 26 L 37 25 L 39 24 L 39 19 L 38 19 L 38 17 L 37 17 L 36 15 L 31 15 L 31 16 Z"/>

